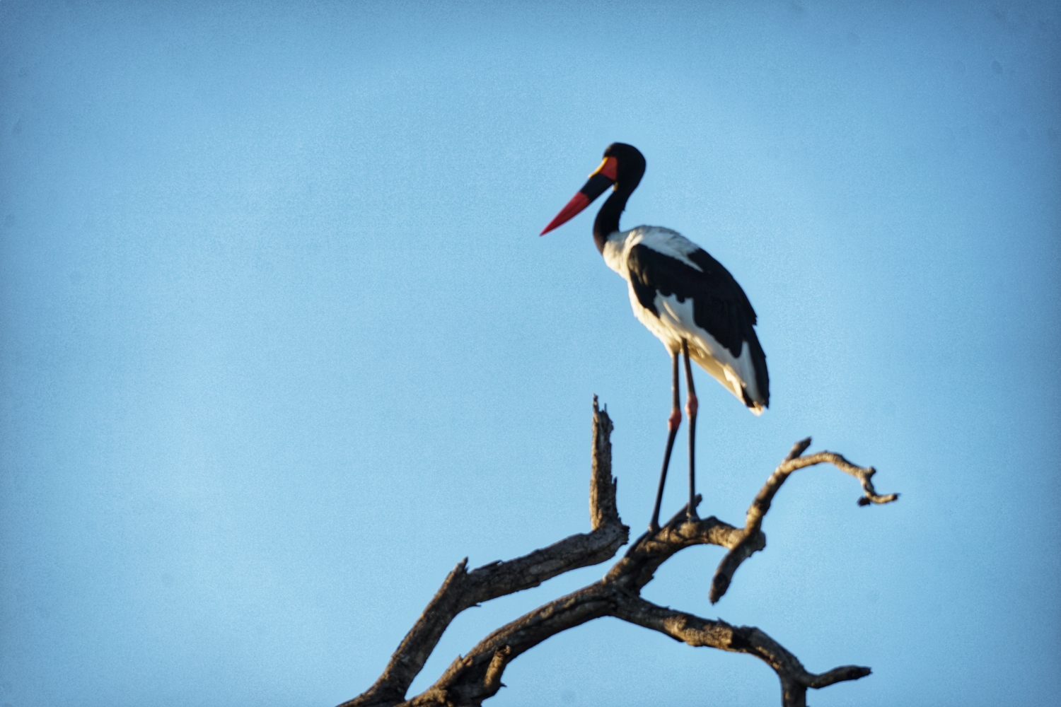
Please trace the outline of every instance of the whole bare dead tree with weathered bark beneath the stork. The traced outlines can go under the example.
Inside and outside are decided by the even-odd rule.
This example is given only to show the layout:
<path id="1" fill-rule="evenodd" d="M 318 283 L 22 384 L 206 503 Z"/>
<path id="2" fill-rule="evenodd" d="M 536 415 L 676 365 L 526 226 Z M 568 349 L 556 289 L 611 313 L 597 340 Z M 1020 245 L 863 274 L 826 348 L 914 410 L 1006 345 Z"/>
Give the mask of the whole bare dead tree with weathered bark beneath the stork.
<path id="1" fill-rule="evenodd" d="M 755 496 L 743 528 L 734 528 L 714 516 L 690 522 L 682 508 L 657 533 L 645 533 L 615 563 L 604 579 L 552 601 L 507 623 L 458 657 L 428 690 L 411 700 L 405 692 L 423 668 L 453 618 L 477 603 L 538 586 L 557 575 L 597 564 L 613 556 L 628 540 L 615 507 L 615 480 L 611 475 L 611 420 L 593 399 L 593 464 L 590 478 L 592 531 L 572 535 L 541 550 L 508 562 L 495 562 L 472 571 L 467 558 L 450 572 L 441 588 L 390 657 L 383 674 L 364 693 L 340 707 L 477 707 L 502 687 L 505 667 L 524 651 L 550 636 L 603 616 L 659 631 L 690 646 L 754 655 L 769 665 L 781 681 L 783 707 L 804 707 L 807 688 L 822 688 L 870 674 L 869 668 L 845 666 L 825 673 L 807 672 L 799 659 L 754 626 L 733 626 L 692 614 L 657 606 L 641 598 L 641 589 L 656 569 L 676 552 L 693 545 L 719 545 L 729 549 L 711 584 L 710 599 L 726 593 L 736 568 L 766 547 L 763 517 L 788 475 L 820 463 L 834 464 L 862 482 L 859 505 L 887 503 L 899 495 L 880 496 L 873 489 L 872 467 L 852 464 L 838 454 L 820 452 L 803 457 L 811 445 L 805 439 L 770 475 Z M 700 498 L 696 498 L 699 503 Z"/>

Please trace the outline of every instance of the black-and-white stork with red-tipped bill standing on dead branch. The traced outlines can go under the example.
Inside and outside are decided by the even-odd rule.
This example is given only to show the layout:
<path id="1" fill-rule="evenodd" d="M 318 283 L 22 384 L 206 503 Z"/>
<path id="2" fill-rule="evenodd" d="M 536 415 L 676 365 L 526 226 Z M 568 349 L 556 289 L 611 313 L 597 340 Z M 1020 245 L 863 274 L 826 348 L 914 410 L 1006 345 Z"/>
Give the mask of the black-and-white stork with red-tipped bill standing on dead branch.
<path id="1" fill-rule="evenodd" d="M 755 311 L 729 270 L 677 231 L 638 226 L 621 231 L 619 219 L 645 173 L 645 157 L 633 145 L 614 142 L 589 180 L 540 235 L 558 228 L 589 207 L 608 188 L 611 196 L 593 222 L 593 241 L 604 261 L 626 280 L 633 315 L 671 354 L 672 409 L 663 470 L 649 533 L 659 531 L 660 502 L 678 427 L 681 424 L 678 359 L 684 356 L 689 416 L 689 506 L 696 514 L 696 414 L 698 402 L 690 359 L 759 416 L 769 406 L 766 354 L 755 335 Z"/>

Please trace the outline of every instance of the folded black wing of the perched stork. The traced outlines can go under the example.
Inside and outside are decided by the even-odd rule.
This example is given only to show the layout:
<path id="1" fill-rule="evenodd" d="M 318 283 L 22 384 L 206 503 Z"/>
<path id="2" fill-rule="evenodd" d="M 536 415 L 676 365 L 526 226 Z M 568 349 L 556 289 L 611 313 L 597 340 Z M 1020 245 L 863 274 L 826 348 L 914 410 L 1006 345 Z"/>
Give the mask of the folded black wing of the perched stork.
<path id="1" fill-rule="evenodd" d="M 657 293 L 664 297 L 675 295 L 679 302 L 692 298 L 696 324 L 726 347 L 734 358 L 741 355 L 742 344 L 748 342 L 755 368 L 755 383 L 769 401 L 766 354 L 755 336 L 755 311 L 748 296 L 729 270 L 708 251 L 697 248 L 686 258 L 696 263 L 702 272 L 644 244 L 630 248 L 626 264 L 638 301 L 658 317 Z"/>

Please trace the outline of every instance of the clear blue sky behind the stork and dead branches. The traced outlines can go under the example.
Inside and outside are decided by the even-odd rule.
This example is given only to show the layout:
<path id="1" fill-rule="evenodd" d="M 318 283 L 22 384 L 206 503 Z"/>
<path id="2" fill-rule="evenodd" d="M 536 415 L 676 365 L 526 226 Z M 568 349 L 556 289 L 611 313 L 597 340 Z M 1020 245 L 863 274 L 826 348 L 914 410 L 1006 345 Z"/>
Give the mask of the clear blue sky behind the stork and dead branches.
<path id="1" fill-rule="evenodd" d="M 1061 690 L 1057 3 L 0 4 L 0 704 L 334 705 L 446 573 L 588 528 L 591 400 L 648 520 L 664 349 L 588 210 L 702 245 L 771 407 L 698 374 L 702 514 L 797 439 L 765 552 L 645 596 L 756 625 L 829 705 Z M 678 445 L 675 464 L 685 463 Z M 674 483 L 664 513 L 680 505 Z M 459 616 L 414 684 L 608 565 Z M 779 704 L 604 619 L 490 704 Z M 412 694 L 412 693 L 411 693 Z"/>

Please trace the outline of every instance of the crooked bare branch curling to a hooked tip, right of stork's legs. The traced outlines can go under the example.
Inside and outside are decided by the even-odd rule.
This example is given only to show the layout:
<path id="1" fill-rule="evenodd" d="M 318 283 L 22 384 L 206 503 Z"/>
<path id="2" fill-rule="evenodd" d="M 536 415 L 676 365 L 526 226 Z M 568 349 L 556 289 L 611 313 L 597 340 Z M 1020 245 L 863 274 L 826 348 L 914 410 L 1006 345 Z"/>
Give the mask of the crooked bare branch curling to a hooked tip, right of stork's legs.
<path id="1" fill-rule="evenodd" d="M 773 470 L 770 477 L 766 479 L 766 483 L 763 484 L 763 488 L 755 495 L 755 499 L 751 501 L 748 514 L 745 517 L 744 528 L 736 531 L 735 543 L 730 546 L 729 553 L 718 563 L 715 576 L 711 580 L 711 593 L 708 595 L 708 598 L 712 604 L 716 603 L 726 594 L 730 582 L 733 581 L 733 572 L 741 566 L 741 563 L 766 547 L 766 535 L 762 532 L 763 518 L 766 516 L 766 512 L 770 510 L 773 496 L 793 472 L 815 464 L 831 463 L 845 474 L 855 477 L 862 483 L 865 495 L 858 499 L 859 506 L 890 503 L 899 498 L 899 494 L 889 494 L 887 496 L 879 496 L 876 494 L 876 491 L 873 489 L 873 482 L 870 480 L 876 474 L 876 470 L 872 466 L 852 464 L 842 455 L 833 452 L 818 452 L 810 457 L 803 457 L 802 454 L 806 452 L 808 446 L 811 446 L 810 437 L 794 444 L 792 450 L 788 452 L 788 456 Z"/>

